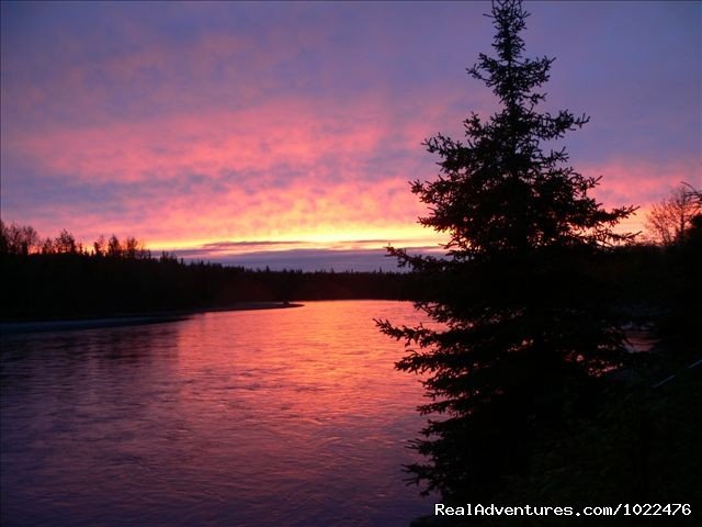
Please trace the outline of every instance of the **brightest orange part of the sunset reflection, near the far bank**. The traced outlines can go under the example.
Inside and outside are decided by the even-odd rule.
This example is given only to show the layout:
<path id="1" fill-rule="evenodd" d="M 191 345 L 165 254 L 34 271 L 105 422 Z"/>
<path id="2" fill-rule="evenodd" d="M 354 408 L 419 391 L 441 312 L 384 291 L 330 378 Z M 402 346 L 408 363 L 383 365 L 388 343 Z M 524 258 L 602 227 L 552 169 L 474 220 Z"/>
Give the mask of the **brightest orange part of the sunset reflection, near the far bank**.
<path id="1" fill-rule="evenodd" d="M 200 316 L 179 335 L 178 370 L 226 391 L 219 403 L 250 401 L 317 419 L 353 411 L 382 422 L 393 408 L 411 411 L 421 390 L 394 370 L 404 347 L 381 334 L 372 317 L 418 315 L 407 303 L 375 302 L 375 311 L 371 304 L 313 302 Z"/>

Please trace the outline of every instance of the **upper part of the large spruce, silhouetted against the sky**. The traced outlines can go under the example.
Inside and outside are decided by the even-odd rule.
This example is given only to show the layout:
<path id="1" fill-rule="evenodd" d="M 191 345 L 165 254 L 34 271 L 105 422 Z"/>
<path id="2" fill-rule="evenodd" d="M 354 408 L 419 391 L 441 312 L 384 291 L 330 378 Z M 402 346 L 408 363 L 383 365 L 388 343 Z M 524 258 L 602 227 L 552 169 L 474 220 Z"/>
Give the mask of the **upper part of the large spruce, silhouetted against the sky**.
<path id="1" fill-rule="evenodd" d="M 441 161 L 437 180 L 412 183 L 430 210 L 420 224 L 448 233 L 445 248 L 458 259 L 631 238 L 611 227 L 635 209 L 602 209 L 588 195 L 600 178 L 569 166 L 565 147 L 545 148 L 589 117 L 537 111 L 546 94 L 536 89 L 548 81 L 554 59 L 523 57 L 529 13 L 521 1 L 495 0 L 489 16 L 497 56 L 479 54 L 467 71 L 492 89 L 501 109 L 487 120 L 471 113 L 463 123 L 465 142 L 442 134 L 424 142 Z"/>

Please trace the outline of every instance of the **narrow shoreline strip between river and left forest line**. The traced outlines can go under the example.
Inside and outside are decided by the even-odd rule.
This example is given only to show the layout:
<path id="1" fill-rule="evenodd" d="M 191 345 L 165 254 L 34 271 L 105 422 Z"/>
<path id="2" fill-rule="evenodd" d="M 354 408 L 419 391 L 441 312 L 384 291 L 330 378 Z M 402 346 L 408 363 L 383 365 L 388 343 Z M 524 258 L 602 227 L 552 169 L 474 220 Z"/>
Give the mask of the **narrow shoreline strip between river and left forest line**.
<path id="1" fill-rule="evenodd" d="M 76 329 L 97 329 L 103 327 L 136 326 L 182 321 L 191 315 L 223 311 L 284 310 L 302 307 L 304 304 L 291 302 L 238 302 L 217 307 L 199 307 L 192 310 L 159 311 L 148 313 L 115 313 L 101 316 L 76 318 L 52 318 L 44 321 L 5 321 L 0 322 L 0 335 L 27 333 L 64 332 Z"/>

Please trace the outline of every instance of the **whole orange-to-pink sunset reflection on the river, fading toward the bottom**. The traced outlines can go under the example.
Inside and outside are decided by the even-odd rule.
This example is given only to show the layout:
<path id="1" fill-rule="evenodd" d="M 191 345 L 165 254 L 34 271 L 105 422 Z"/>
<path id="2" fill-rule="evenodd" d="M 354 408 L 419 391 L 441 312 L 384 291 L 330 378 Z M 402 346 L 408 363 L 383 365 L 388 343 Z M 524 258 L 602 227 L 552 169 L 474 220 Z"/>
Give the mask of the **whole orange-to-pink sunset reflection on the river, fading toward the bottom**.
<path id="1" fill-rule="evenodd" d="M 418 319 L 409 303 L 313 302 L 188 322 L 172 374 L 208 478 L 228 467 L 231 492 L 264 503 L 282 493 L 380 511 L 414 495 L 401 466 L 415 460 L 404 447 L 423 424 L 422 389 L 395 371 L 405 349 L 372 317 Z"/>

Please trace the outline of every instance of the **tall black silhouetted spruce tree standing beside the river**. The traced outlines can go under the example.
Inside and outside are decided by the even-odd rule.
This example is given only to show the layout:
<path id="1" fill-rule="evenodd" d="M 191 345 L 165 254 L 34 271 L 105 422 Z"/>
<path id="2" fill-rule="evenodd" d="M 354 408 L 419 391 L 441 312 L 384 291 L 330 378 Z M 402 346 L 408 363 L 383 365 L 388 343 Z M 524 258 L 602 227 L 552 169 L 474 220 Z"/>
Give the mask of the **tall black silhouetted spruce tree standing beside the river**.
<path id="1" fill-rule="evenodd" d="M 465 142 L 426 142 L 441 170 L 411 190 L 429 205 L 420 223 L 449 235 L 446 258 L 389 249 L 431 284 L 416 305 L 438 324 L 378 325 L 410 349 L 397 368 L 426 375 L 420 411 L 433 417 L 416 447 L 428 461 L 409 471 L 446 500 L 491 495 L 536 435 L 584 410 L 597 373 L 624 357 L 591 264 L 631 237 L 611 228 L 634 209 L 603 210 L 588 195 L 599 178 L 551 148 L 588 117 L 537 111 L 554 59 L 522 56 L 526 16 L 518 0 L 495 1 L 497 56 L 468 69 L 499 112 L 472 113 Z"/>

